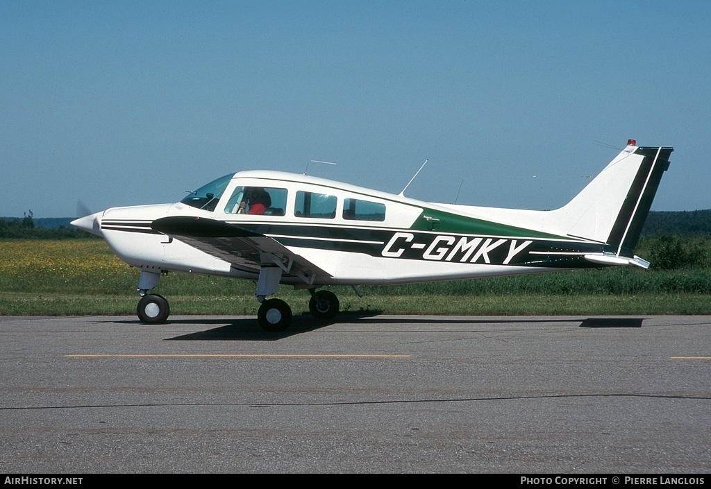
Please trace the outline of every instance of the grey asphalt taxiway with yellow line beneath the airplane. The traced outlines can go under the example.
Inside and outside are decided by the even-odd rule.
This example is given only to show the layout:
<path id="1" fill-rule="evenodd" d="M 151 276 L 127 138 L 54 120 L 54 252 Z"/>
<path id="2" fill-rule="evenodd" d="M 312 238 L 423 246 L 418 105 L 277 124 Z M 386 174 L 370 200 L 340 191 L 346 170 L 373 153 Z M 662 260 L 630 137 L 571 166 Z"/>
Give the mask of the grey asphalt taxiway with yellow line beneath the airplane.
<path id="1" fill-rule="evenodd" d="M 4 473 L 708 473 L 711 317 L 0 317 Z"/>

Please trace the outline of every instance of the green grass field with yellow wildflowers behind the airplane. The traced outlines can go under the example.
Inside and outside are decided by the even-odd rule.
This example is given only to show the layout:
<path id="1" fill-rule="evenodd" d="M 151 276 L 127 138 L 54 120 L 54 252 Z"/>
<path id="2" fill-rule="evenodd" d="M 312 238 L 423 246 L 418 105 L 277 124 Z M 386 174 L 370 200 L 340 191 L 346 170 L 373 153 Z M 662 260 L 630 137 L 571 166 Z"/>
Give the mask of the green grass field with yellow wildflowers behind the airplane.
<path id="1" fill-rule="evenodd" d="M 646 242 L 649 246 L 652 242 Z M 641 243 L 644 248 L 645 243 Z M 653 244 L 653 243 L 652 243 Z M 704 243 L 696 243 L 702 249 Z M 705 249 L 705 248 L 704 248 Z M 648 257 L 655 254 L 647 249 Z M 1 240 L 0 315 L 133 315 L 140 271 L 112 254 L 102 240 Z M 252 315 L 255 282 L 170 274 L 156 293 L 171 314 Z M 711 270 L 633 267 L 446 281 L 408 286 L 331 287 L 341 311 L 456 315 L 711 314 Z M 309 294 L 281 286 L 294 313 L 308 310 Z"/>

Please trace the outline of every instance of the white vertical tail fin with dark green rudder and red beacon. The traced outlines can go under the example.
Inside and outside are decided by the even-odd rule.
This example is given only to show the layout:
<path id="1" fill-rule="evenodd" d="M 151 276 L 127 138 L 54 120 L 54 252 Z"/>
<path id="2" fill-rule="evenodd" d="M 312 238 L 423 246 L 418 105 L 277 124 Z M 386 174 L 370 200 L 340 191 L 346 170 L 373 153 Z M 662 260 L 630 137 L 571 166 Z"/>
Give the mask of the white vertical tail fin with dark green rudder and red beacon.
<path id="1" fill-rule="evenodd" d="M 636 146 L 628 141 L 606 168 L 564 207 L 552 211 L 567 222 L 566 233 L 608 245 L 609 252 L 633 257 L 673 148 Z"/>

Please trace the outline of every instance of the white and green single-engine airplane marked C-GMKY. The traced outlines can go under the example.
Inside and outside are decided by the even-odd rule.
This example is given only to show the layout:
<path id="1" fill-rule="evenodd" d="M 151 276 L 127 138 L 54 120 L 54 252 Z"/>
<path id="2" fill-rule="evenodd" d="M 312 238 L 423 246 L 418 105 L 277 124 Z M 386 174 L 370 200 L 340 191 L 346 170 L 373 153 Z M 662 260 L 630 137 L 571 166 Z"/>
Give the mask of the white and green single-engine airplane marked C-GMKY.
<path id="1" fill-rule="evenodd" d="M 634 247 L 673 148 L 630 139 L 557 210 L 428 203 L 312 176 L 230 173 L 178 203 L 111 208 L 72 222 L 141 269 L 137 313 L 162 323 L 168 301 L 148 294 L 169 271 L 257 280 L 266 331 L 292 320 L 267 299 L 306 289 L 321 320 L 338 313 L 326 285 L 407 284 L 649 263 Z M 409 183 L 408 183 L 409 185 Z M 407 188 L 407 187 L 406 187 Z M 356 290 L 357 293 L 357 290 Z"/>

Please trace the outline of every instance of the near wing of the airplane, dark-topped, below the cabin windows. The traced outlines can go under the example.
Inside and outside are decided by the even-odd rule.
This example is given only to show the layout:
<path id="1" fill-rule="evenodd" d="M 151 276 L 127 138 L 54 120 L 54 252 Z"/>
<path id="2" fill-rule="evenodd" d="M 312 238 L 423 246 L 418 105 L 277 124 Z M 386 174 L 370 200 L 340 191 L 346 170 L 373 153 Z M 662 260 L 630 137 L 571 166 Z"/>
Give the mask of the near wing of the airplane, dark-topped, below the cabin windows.
<path id="1" fill-rule="evenodd" d="M 201 251 L 225 260 L 235 269 L 260 273 L 262 265 L 281 267 L 284 274 L 300 276 L 312 284 L 316 275 L 328 272 L 292 252 L 273 237 L 227 222 L 205 217 L 162 217 L 151 222 L 151 228 Z"/>

